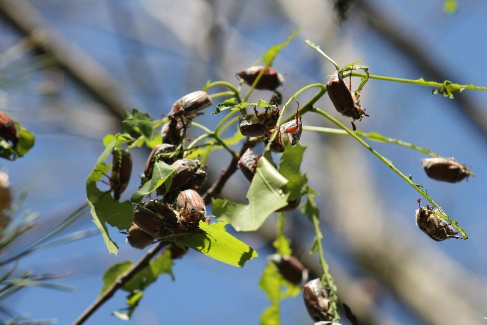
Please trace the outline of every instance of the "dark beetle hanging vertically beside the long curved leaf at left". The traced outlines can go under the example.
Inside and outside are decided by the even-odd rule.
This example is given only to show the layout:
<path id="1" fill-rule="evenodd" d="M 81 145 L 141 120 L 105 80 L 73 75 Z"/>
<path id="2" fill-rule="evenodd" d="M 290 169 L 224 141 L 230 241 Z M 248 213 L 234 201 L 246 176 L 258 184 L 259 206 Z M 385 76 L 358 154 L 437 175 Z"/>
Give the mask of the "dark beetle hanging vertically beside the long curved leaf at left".
<path id="1" fill-rule="evenodd" d="M 114 148 L 112 151 L 112 175 L 110 176 L 110 189 L 114 192 L 114 199 L 119 200 L 120 195 L 127 188 L 132 173 L 132 156 L 126 150 Z"/>

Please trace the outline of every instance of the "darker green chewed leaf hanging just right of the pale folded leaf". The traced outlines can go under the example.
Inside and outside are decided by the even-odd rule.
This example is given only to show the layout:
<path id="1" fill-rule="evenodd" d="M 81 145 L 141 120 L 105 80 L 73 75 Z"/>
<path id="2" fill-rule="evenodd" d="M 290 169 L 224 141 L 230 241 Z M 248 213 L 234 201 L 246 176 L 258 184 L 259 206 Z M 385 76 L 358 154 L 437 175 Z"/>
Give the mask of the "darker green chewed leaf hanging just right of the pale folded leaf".
<path id="1" fill-rule="evenodd" d="M 305 185 L 308 183 L 308 177 L 300 172 L 301 161 L 306 148 L 299 143 L 295 146 L 286 143 L 284 153 L 279 161 L 279 172 L 289 180 L 284 190 L 289 193 L 289 200 L 300 199 L 306 192 Z"/>

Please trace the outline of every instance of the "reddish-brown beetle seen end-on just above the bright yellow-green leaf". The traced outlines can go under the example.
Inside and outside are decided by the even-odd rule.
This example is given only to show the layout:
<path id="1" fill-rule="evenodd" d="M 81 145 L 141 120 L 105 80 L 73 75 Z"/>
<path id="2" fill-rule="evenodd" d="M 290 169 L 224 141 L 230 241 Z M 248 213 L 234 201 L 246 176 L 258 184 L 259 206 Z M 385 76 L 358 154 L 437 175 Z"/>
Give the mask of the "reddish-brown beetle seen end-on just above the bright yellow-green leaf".
<path id="1" fill-rule="evenodd" d="M 179 208 L 179 224 L 185 231 L 197 228 L 198 222 L 206 217 L 205 202 L 200 194 L 192 189 L 179 193 L 177 206 Z"/>

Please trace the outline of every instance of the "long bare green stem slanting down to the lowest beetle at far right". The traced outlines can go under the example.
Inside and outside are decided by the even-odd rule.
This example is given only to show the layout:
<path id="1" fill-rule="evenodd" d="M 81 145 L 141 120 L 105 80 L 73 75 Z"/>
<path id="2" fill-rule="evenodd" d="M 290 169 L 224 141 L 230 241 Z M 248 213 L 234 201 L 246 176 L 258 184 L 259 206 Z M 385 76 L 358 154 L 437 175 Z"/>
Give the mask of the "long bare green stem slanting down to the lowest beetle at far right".
<path id="1" fill-rule="evenodd" d="M 426 198 L 429 202 L 431 202 L 431 204 L 433 204 L 436 208 L 438 208 L 438 210 L 442 214 L 441 217 L 444 218 L 445 220 L 447 220 L 448 222 L 450 222 L 453 226 L 455 226 L 455 228 L 457 228 L 457 230 L 460 232 L 462 237 L 464 237 L 464 239 L 468 238 L 467 233 L 465 232 L 465 230 L 462 227 L 460 227 L 458 225 L 457 221 L 450 219 L 450 217 L 443 211 L 443 209 L 435 201 L 433 201 L 433 199 L 425 191 L 423 191 L 417 184 L 413 183 L 413 181 L 411 179 L 409 179 L 408 176 L 404 175 L 399 169 L 397 169 L 392 164 L 391 161 L 385 159 L 382 155 L 380 155 L 372 147 L 370 147 L 364 140 L 359 138 L 358 135 L 356 135 L 353 131 L 348 129 L 346 126 L 344 126 L 338 120 L 333 118 L 330 114 L 328 114 L 328 113 L 326 113 L 320 109 L 317 109 L 317 108 L 312 108 L 310 111 L 324 116 L 325 118 L 327 118 L 328 120 L 333 122 L 336 126 L 338 126 L 340 129 L 345 130 L 345 132 L 347 132 L 351 137 L 353 137 L 361 145 L 363 145 L 365 148 L 367 148 L 368 151 L 370 151 L 372 154 L 374 154 L 375 157 L 377 157 L 382 163 L 385 163 L 390 169 L 392 169 L 396 174 L 398 174 L 402 179 L 404 179 L 409 185 L 411 185 L 416 191 L 418 191 L 419 194 L 421 194 L 424 198 Z"/>

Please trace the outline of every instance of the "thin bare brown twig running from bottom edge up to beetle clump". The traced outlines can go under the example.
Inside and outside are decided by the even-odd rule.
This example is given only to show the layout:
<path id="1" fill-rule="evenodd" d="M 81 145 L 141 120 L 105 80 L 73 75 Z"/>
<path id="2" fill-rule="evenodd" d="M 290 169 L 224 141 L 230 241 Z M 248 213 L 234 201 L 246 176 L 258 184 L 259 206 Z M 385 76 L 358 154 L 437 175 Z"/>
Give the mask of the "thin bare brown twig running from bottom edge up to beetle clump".
<path id="1" fill-rule="evenodd" d="M 114 283 L 100 296 L 90 307 L 88 307 L 83 314 L 73 322 L 73 325 L 83 324 L 93 313 L 95 313 L 100 306 L 107 302 L 112 296 L 122 288 L 134 275 L 145 268 L 149 261 L 167 244 L 167 242 L 159 242 L 156 246 L 149 249 L 144 256 L 142 256 L 137 263 L 135 263 L 130 269 L 123 272 Z"/>

